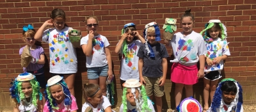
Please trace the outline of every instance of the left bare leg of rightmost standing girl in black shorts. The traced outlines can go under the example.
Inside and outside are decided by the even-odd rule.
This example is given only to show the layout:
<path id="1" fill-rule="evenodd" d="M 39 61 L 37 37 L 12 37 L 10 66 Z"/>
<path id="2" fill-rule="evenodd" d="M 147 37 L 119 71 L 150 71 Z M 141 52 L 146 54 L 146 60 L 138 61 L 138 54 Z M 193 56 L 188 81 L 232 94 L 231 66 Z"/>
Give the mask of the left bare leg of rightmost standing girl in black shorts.
<path id="1" fill-rule="evenodd" d="M 204 112 L 209 108 L 209 104 L 208 104 L 209 90 L 210 90 L 210 80 L 204 78 Z"/>

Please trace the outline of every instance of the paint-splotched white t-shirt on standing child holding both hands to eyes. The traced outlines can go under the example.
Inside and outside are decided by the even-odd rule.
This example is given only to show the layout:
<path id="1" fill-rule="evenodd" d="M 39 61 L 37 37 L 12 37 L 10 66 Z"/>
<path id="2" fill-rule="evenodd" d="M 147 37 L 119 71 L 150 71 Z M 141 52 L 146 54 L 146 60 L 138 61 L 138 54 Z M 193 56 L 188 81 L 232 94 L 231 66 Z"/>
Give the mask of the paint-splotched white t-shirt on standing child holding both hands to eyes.
<path id="1" fill-rule="evenodd" d="M 140 40 L 133 40 L 132 43 L 128 44 L 129 54 L 127 54 L 127 57 L 123 54 L 123 46 L 120 49 L 120 53 L 122 54 L 121 80 L 140 79 L 138 68 L 139 57 L 137 56 L 140 45 L 143 45 Z"/>

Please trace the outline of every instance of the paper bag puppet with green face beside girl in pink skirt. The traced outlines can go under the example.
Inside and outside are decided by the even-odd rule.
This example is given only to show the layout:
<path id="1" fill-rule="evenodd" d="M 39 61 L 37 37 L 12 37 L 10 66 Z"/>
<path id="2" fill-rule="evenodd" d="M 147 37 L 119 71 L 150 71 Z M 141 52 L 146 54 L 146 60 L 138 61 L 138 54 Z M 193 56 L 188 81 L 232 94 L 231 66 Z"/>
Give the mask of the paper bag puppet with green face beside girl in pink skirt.
<path id="1" fill-rule="evenodd" d="M 177 30 L 176 26 L 177 19 L 171 19 L 171 18 L 166 18 L 165 23 L 163 26 L 164 32 L 164 39 L 166 40 L 172 40 L 174 31 Z"/>

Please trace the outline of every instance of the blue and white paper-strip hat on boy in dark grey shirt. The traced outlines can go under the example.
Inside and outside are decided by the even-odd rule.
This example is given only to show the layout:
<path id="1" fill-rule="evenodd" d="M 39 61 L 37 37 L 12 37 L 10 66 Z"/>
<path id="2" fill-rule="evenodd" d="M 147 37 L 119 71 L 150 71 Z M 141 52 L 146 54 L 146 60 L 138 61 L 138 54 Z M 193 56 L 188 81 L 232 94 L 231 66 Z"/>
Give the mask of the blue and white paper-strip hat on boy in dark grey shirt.
<path id="1" fill-rule="evenodd" d="M 149 27 L 154 27 L 155 28 L 155 34 L 156 34 L 156 41 L 160 41 L 161 40 L 161 34 L 160 34 L 160 29 L 159 29 L 159 26 L 157 25 L 156 22 L 150 22 L 148 24 L 145 25 L 145 29 L 143 31 L 143 35 L 145 37 L 145 40 L 147 40 L 147 33 L 148 33 L 148 28 Z M 146 41 L 145 43 L 145 47 L 146 47 L 146 51 L 147 51 L 147 54 L 150 58 L 154 58 L 155 57 L 155 54 L 154 54 L 154 51 L 153 49 L 151 48 L 151 45 L 148 44 L 148 40 Z"/>

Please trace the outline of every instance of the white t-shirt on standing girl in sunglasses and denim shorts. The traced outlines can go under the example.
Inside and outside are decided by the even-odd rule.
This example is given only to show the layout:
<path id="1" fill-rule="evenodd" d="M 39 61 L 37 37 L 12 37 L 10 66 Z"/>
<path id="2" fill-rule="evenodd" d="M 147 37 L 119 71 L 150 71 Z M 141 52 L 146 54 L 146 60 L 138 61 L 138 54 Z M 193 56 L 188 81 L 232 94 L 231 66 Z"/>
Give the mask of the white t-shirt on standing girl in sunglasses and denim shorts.
<path id="1" fill-rule="evenodd" d="M 86 56 L 86 67 L 103 67 L 108 64 L 104 47 L 109 46 L 108 39 L 105 36 L 97 35 L 94 36 L 95 44 L 92 49 L 92 55 Z M 81 39 L 81 45 L 88 44 L 89 35 L 84 36 Z"/>

